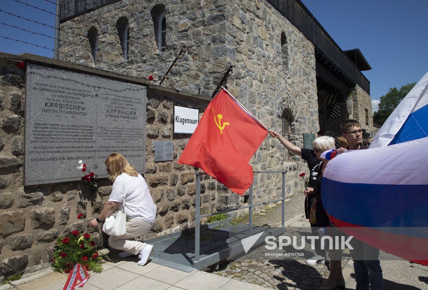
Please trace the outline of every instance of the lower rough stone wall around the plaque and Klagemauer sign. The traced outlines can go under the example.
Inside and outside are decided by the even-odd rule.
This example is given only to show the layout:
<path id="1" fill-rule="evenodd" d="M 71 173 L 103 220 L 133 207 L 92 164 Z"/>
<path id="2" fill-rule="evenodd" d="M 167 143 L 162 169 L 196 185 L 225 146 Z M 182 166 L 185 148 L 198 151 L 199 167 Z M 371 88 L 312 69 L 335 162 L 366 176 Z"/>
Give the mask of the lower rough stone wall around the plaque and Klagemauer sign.
<path id="1" fill-rule="evenodd" d="M 100 228 L 87 228 L 84 221 L 77 219 L 77 215 L 83 213 L 88 219 L 95 217 L 107 201 L 111 190 L 111 182 L 108 179 L 100 181 L 101 188 L 106 192 L 102 199 L 81 181 L 23 186 L 25 70 L 18 69 L 16 62 L 6 60 L 13 57 L 15 56 L 7 55 L 0 58 L 0 272 L 6 277 L 48 267 L 53 254 L 53 243 L 59 236 L 71 230 L 89 232 L 99 247 L 106 246 L 108 236 L 102 233 Z M 43 65 L 39 59 L 44 58 L 37 59 L 36 63 Z M 70 67 L 61 61 L 50 62 L 48 66 L 55 63 L 55 67 L 59 69 Z M 82 66 L 72 65 L 73 69 L 76 67 L 82 69 L 82 72 L 85 70 Z M 88 73 L 93 71 L 95 70 L 88 69 Z M 158 207 L 158 215 L 152 233 L 143 239 L 194 226 L 196 169 L 176 163 L 190 135 L 172 133 L 173 108 L 174 105 L 198 108 L 202 116 L 210 99 L 170 91 L 157 87 L 148 88 L 147 92 L 144 177 Z M 172 161 L 154 161 L 156 140 L 173 141 Z M 283 163 L 278 157 L 281 152 L 278 142 L 269 137 L 262 143 L 251 163 L 255 170 L 288 170 L 286 194 L 294 194 L 301 191 L 303 186 L 297 176 L 303 163 Z M 306 167 L 302 168 L 300 170 L 307 170 Z M 279 198 L 280 180 L 280 174 L 256 174 L 255 202 Z M 245 196 L 233 193 L 211 176 L 203 177 L 202 214 L 237 208 L 246 202 Z M 236 214 L 237 212 L 231 213 L 231 216 Z M 1 279 L 4 277 L 0 276 Z"/>

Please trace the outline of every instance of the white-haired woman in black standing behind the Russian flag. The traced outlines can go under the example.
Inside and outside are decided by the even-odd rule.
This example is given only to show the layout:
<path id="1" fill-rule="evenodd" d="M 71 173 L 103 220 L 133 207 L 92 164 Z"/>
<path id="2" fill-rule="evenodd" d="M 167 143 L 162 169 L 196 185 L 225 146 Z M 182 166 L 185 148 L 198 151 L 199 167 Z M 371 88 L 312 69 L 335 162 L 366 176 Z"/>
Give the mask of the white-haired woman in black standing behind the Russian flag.
<path id="1" fill-rule="evenodd" d="M 315 215 L 315 225 L 316 227 L 323 228 L 330 225 L 330 219 L 325 212 L 324 206 L 322 205 L 321 197 L 323 194 L 328 194 L 328 192 L 321 192 L 321 180 L 324 175 L 324 170 L 327 167 L 328 160 L 321 158 L 321 153 L 327 151 L 330 148 L 334 148 L 334 138 L 322 136 L 314 140 L 314 153 L 321 164 L 318 167 L 318 174 L 316 179 L 313 180 L 312 185 L 314 187 L 308 187 L 304 193 L 315 194 L 315 200 L 312 205 L 311 214 Z M 329 230 L 330 235 L 334 233 L 334 230 Z M 334 240 L 334 238 L 333 238 Z M 327 281 L 319 289 L 321 290 L 334 290 L 337 288 L 345 288 L 345 279 L 342 275 L 342 255 L 340 250 L 329 250 L 330 256 L 330 275 L 327 278 Z"/>

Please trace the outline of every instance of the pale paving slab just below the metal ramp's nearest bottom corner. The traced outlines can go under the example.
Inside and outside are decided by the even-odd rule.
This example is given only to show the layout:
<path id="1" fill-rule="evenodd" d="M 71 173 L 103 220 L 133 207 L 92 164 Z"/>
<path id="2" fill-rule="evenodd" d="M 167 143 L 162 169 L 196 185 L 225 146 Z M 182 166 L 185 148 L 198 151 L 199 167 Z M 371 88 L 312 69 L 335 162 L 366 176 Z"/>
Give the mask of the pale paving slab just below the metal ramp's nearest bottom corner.
<path id="1" fill-rule="evenodd" d="M 201 289 L 201 285 L 203 285 L 204 290 L 216 290 L 222 287 L 230 280 L 230 278 L 197 271 L 193 272 L 191 275 L 174 284 L 174 286 L 186 290 L 199 290 Z"/>

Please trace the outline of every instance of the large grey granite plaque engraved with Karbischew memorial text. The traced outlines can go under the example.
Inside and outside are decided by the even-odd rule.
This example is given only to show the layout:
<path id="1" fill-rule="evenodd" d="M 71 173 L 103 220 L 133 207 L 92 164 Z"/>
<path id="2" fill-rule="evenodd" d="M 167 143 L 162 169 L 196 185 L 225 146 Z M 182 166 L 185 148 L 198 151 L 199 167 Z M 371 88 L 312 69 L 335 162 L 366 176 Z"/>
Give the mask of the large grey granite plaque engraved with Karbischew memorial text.
<path id="1" fill-rule="evenodd" d="M 144 173 L 146 87 L 29 64 L 25 104 L 25 185 L 108 177 L 113 152 Z"/>

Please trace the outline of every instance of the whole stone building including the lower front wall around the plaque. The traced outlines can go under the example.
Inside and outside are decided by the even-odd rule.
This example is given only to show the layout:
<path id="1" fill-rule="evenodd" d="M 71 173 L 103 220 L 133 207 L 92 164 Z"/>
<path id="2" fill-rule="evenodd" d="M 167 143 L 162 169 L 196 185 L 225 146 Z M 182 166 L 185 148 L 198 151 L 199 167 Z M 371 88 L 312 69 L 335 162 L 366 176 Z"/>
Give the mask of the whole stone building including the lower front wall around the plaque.
<path id="1" fill-rule="evenodd" d="M 176 163 L 190 135 L 173 134 L 173 110 L 174 105 L 199 108 L 201 116 L 223 78 L 262 123 L 297 146 L 303 147 L 303 133 L 320 128 L 339 135 L 347 118 L 374 131 L 370 83 L 361 73 L 370 66 L 359 50 L 342 51 L 299 0 L 63 0 L 59 58 L 14 60 L 71 66 L 149 88 L 144 177 L 158 206 L 152 235 L 194 225 L 195 169 Z M 2 63 L 0 88 L 3 275 L 47 267 L 56 237 L 85 229 L 74 215 L 92 217 L 104 203 L 81 182 L 24 187 L 25 77 L 13 66 Z M 229 66 L 233 71 L 227 75 Z M 154 142 L 170 140 L 174 159 L 155 162 Z M 266 138 L 250 164 L 254 170 L 287 170 L 286 194 L 302 191 L 298 175 L 307 171 L 306 164 L 275 139 Z M 110 184 L 102 181 L 107 192 Z M 212 178 L 202 180 L 201 188 L 205 213 L 248 202 Z M 281 176 L 254 176 L 255 203 L 277 199 L 280 192 Z M 101 245 L 101 231 L 94 234 Z M 21 268 L 10 270 L 16 264 Z"/>

